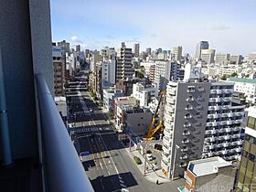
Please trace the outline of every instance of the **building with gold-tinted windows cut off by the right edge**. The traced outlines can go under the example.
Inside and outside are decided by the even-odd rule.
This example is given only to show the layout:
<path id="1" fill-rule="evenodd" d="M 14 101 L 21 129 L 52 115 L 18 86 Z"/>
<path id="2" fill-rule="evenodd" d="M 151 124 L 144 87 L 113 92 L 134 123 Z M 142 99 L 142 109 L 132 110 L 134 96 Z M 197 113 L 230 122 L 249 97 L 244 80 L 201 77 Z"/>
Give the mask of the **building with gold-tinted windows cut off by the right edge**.
<path id="1" fill-rule="evenodd" d="M 245 128 L 236 192 L 256 191 L 256 108 L 250 107 L 247 111 L 248 123 Z"/>

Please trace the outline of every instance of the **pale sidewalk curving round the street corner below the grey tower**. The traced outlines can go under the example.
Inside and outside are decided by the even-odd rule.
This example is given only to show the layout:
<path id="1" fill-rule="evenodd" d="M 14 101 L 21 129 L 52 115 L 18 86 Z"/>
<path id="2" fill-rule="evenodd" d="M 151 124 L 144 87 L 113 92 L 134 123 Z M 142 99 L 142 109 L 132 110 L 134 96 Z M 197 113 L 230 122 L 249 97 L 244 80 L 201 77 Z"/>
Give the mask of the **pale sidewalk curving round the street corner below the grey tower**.
<path id="1" fill-rule="evenodd" d="M 136 165 L 138 167 L 138 169 L 141 171 L 142 175 L 144 175 L 144 156 L 140 154 L 140 152 L 138 150 L 132 150 L 130 152 L 129 148 L 125 148 L 125 150 L 127 151 L 127 153 L 129 154 L 129 156 L 131 157 L 132 161 L 133 161 L 133 156 L 138 156 L 141 160 L 142 160 L 142 164 L 141 165 L 136 165 L 135 162 L 133 161 L 134 165 Z M 161 183 L 167 183 L 170 182 L 171 180 L 167 179 L 164 175 L 164 173 L 162 172 L 161 169 L 158 169 L 156 171 L 154 171 L 152 169 L 152 166 L 149 165 L 147 163 L 148 166 L 148 170 L 146 170 L 146 176 L 144 176 L 148 181 L 152 182 L 152 183 L 156 183 L 156 180 L 158 180 L 158 182 Z M 159 165 L 158 165 L 159 166 Z"/>

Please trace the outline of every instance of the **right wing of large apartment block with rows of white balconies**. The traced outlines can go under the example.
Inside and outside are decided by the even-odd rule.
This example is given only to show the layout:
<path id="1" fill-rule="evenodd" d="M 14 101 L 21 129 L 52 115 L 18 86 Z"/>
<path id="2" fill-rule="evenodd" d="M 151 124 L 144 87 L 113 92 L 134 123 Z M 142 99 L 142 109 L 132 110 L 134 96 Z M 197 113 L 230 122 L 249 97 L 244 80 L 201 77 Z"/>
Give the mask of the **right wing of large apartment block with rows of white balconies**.
<path id="1" fill-rule="evenodd" d="M 232 102 L 233 91 L 233 83 L 211 83 L 202 157 L 218 155 L 228 161 L 240 157 L 245 106 Z"/>

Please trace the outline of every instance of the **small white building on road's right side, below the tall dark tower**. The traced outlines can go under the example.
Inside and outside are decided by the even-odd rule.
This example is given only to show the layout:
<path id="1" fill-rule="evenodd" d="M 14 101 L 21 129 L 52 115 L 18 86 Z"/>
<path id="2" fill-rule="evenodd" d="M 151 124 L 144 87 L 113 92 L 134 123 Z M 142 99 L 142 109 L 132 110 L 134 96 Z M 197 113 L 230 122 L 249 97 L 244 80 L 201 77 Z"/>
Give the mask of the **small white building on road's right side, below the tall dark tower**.
<path id="1" fill-rule="evenodd" d="M 108 112 L 113 112 L 113 101 L 116 97 L 123 97 L 123 90 L 115 87 L 103 89 L 103 106 Z"/>

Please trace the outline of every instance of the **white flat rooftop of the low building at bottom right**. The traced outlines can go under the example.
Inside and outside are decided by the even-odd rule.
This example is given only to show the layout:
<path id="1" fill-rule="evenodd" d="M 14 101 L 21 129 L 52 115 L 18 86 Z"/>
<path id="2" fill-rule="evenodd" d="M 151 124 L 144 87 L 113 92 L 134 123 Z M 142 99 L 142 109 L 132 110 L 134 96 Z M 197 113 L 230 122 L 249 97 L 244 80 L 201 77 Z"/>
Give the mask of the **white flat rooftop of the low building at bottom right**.
<path id="1" fill-rule="evenodd" d="M 207 176 L 218 173 L 219 168 L 231 166 L 232 163 L 225 161 L 219 156 L 190 161 L 187 167 L 196 176 Z"/>

